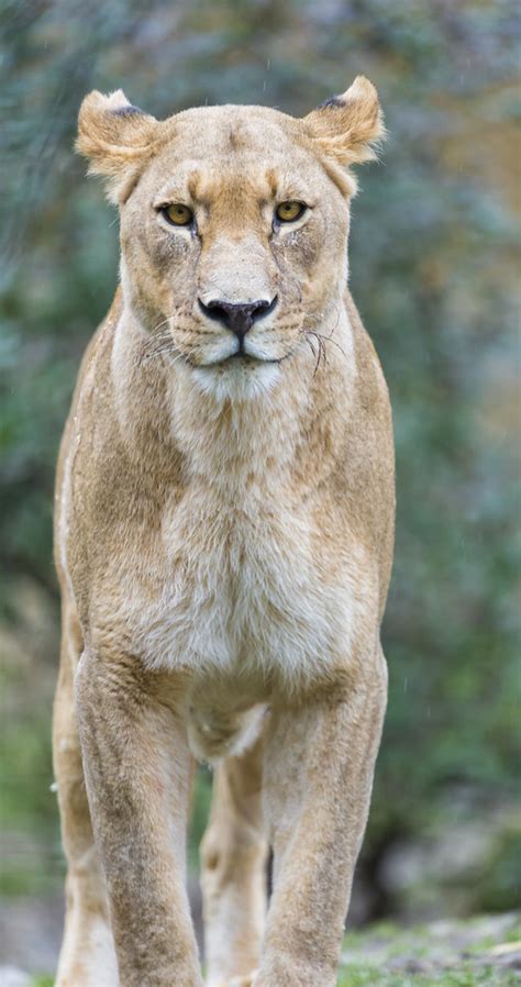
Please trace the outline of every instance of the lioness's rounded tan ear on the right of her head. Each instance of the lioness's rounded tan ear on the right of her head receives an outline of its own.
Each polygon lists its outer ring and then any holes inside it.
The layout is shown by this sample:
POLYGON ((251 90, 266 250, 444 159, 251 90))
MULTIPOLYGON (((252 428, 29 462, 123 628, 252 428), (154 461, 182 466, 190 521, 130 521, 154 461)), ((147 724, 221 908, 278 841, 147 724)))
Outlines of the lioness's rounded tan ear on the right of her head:
POLYGON ((303 124, 321 153, 344 166, 375 158, 374 145, 385 136, 378 93, 365 76, 308 113, 303 124))

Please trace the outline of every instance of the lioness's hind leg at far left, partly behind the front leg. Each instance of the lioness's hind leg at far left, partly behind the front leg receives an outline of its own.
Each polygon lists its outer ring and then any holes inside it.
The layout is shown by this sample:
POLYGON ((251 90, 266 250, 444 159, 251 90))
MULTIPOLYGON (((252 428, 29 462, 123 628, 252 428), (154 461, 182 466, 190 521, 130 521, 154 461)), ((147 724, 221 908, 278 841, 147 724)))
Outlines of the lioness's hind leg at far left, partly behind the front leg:
POLYGON ((56 987, 118 987, 104 876, 93 842, 74 708, 74 667, 81 647, 77 621, 64 607, 53 744, 67 880, 56 987))

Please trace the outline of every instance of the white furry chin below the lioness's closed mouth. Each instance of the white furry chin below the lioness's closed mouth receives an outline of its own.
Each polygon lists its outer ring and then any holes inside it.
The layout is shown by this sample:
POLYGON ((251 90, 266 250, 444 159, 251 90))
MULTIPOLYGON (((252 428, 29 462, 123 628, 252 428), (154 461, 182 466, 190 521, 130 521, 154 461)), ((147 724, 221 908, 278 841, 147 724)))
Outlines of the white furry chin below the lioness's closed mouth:
POLYGON ((193 367, 192 374, 200 390, 218 401, 251 401, 268 395, 281 370, 278 363, 244 357, 193 367))

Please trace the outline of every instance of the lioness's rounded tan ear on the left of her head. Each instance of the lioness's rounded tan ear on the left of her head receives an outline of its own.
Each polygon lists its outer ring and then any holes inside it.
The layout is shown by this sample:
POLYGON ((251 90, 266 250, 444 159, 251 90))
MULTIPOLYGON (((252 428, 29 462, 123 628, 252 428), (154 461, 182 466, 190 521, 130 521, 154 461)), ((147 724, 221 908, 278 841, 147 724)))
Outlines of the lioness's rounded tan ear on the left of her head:
POLYGON ((156 146, 159 123, 133 107, 118 89, 95 90, 84 99, 76 149, 90 160, 90 175, 108 177, 108 198, 124 202, 156 146))

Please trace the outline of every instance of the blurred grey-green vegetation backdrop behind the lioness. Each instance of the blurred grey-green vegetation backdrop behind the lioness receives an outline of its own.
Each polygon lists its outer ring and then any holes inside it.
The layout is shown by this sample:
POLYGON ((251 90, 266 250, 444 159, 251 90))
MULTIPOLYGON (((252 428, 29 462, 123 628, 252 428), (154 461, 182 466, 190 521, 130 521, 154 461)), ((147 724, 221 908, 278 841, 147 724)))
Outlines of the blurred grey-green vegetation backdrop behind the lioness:
MULTIPOLYGON (((357 73, 377 85, 390 132, 383 165, 361 171, 351 281, 391 391, 399 509, 385 623, 389 713, 352 918, 513 907, 521 884, 517 3, 4 0, 2 22, 9 913, 23 922, 27 902, 47 916, 59 901, 49 790, 53 474, 80 355, 118 278, 115 213, 73 154, 81 98, 122 87, 157 117, 207 102, 303 114, 357 73)), ((193 867, 210 780, 201 772, 193 867)))

